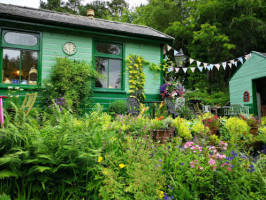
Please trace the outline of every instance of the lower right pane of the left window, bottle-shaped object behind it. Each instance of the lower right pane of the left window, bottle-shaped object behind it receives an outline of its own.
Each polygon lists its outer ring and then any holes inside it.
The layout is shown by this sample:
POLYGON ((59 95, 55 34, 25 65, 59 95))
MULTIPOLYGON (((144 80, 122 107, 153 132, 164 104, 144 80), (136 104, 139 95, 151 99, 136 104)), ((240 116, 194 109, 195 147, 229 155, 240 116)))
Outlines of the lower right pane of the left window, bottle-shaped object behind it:
POLYGON ((21 51, 21 84, 37 85, 36 51, 21 51))

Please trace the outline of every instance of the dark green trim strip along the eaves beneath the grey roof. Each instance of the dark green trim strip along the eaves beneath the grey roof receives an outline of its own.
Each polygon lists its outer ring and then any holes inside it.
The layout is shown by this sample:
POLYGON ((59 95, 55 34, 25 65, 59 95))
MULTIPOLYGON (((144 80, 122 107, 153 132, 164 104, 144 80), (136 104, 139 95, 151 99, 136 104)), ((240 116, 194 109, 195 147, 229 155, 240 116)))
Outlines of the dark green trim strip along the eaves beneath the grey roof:
MULTIPOLYGON (((35 26, 35 27, 44 27, 44 28, 52 28, 52 29, 59 29, 59 30, 66 30, 66 31, 74 31, 74 32, 83 32, 83 33, 89 33, 89 34, 98 34, 102 36, 107 36, 107 37, 116 37, 116 38, 124 38, 124 39, 132 39, 132 40, 138 40, 138 41, 146 41, 146 42, 152 42, 152 43, 159 43, 159 44, 172 44, 174 39, 167 39, 167 38, 157 38, 157 37, 152 37, 152 36, 146 36, 149 38, 153 39, 147 39, 143 38, 141 36, 136 37, 137 34, 129 34, 129 35, 120 35, 123 33, 105 33, 105 32, 99 32, 99 31, 88 31, 84 29, 74 29, 74 28, 68 28, 68 27, 63 27, 63 26, 58 26, 58 25, 47 25, 47 24, 41 24, 41 23, 36 23, 36 22, 21 22, 18 20, 12 20, 12 19, 0 19, 0 22, 8 22, 8 23, 16 23, 16 24, 25 24, 25 25, 30 25, 30 26, 35 26)), ((73 25, 72 25, 73 27, 73 25)), ((125 33, 124 33, 125 34, 125 33)))

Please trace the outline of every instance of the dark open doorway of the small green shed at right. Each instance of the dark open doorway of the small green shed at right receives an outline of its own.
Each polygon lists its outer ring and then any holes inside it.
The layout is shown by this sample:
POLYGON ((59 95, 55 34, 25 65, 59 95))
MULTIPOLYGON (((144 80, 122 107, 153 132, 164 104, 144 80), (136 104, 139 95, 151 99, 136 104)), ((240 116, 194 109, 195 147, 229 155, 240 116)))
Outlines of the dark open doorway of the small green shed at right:
POLYGON ((266 77, 254 80, 258 117, 266 116, 266 77))

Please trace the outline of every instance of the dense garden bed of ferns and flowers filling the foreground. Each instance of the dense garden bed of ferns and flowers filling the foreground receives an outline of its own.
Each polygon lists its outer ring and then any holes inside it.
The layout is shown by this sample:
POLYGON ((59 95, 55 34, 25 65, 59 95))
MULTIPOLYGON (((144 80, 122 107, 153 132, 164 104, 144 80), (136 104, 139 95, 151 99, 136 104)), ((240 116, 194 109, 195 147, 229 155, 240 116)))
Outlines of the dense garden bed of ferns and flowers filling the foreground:
POLYGON ((214 118, 209 113, 173 120, 150 119, 146 111, 112 121, 101 107, 80 118, 56 106, 7 117, 1 198, 265 199, 265 155, 250 148, 265 142, 264 122, 253 136, 245 119, 219 118, 223 131, 210 135, 203 123, 214 118), (162 128, 176 136, 154 142, 162 128))

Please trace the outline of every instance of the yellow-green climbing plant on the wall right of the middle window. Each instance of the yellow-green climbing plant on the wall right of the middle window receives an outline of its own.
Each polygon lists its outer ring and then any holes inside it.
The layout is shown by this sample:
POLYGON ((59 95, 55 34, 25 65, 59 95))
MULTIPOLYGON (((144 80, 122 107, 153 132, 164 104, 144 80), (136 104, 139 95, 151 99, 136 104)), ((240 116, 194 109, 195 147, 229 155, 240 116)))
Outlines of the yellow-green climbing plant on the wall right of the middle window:
POLYGON ((145 74, 143 65, 149 64, 143 57, 130 55, 126 59, 127 70, 129 72, 129 93, 140 101, 145 99, 145 74))

